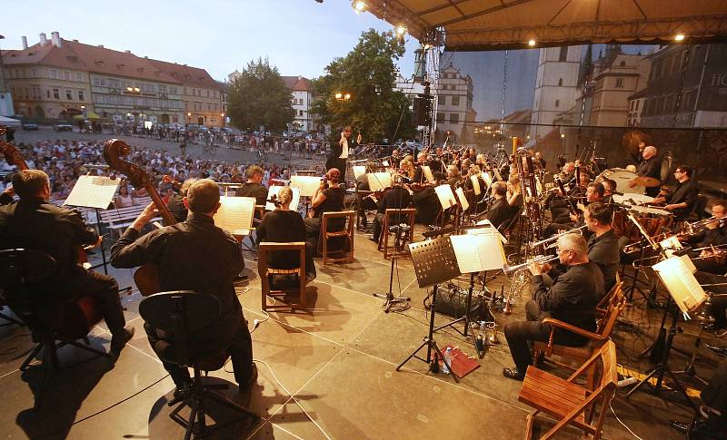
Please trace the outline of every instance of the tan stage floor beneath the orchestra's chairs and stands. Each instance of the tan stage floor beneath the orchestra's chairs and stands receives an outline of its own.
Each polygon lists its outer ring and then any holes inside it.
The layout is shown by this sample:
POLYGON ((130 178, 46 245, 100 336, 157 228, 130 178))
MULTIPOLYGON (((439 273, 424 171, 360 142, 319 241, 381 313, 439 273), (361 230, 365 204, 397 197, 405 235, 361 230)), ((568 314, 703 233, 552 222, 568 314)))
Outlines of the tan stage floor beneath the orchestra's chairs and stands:
MULTIPOLYGON (((417 225, 416 230, 421 233, 423 229, 417 225)), ((502 368, 513 365, 502 326, 524 317, 529 289, 522 298, 515 298, 512 315, 494 312, 500 344, 488 347, 479 359, 480 367, 455 383, 450 376, 429 373, 427 365, 416 359, 395 371, 421 344, 429 320, 423 307, 427 292, 417 287, 411 259, 397 260, 393 279, 395 295, 401 287, 403 295, 412 297, 406 311, 384 313, 383 300, 373 297, 373 292, 388 290, 390 263, 372 241, 357 232, 353 263, 324 267, 316 259, 318 277, 308 287, 308 311, 275 312, 268 318, 261 310, 254 257, 253 252, 245 252, 248 279, 238 283, 237 292, 250 327, 255 319, 261 321, 253 333, 257 384, 249 393, 238 395, 231 373, 219 370, 210 376, 230 383, 226 395, 251 408, 260 420, 236 422, 231 419, 234 415, 210 405, 209 414, 226 424, 215 438, 523 437, 530 408, 518 401, 522 383, 502 376, 502 368)), ((129 270, 112 269, 111 274, 122 288, 131 283, 129 270)), ((500 275, 488 287, 499 290, 505 281, 500 275)), ((637 293, 636 298, 641 296, 637 293)), ((140 299, 138 294, 123 298, 135 336, 115 367, 106 359, 89 359, 85 352, 63 347, 59 353, 66 368, 39 397, 44 388, 40 368, 25 373, 17 369, 32 348, 27 329, 15 325, 0 328, 0 389, 4 392, 0 425, 6 437, 167 439, 184 435, 184 429, 168 417, 170 408, 165 402, 171 398, 174 384, 148 345, 137 313, 140 299)), ((613 337, 621 365, 640 372, 652 367, 637 355, 651 345, 661 317, 662 309, 647 308, 642 300, 625 309, 622 318, 633 326, 617 326, 613 337)), ((436 323, 449 319, 437 315, 436 323)), ((680 321, 680 326, 684 332, 676 336, 675 345, 691 354, 699 328, 694 321, 680 321)), ((724 344, 711 333, 704 335, 707 341, 724 344)), ((93 346, 108 349, 109 340, 105 326, 95 328, 93 346)), ((475 356, 472 344, 451 328, 437 332, 435 340, 440 347, 451 344, 475 356)), ((672 351, 672 369, 681 370, 688 361, 689 357, 672 351)), ((717 361, 716 355, 701 347, 697 373, 709 378, 717 361)), ((679 376, 684 385, 700 389, 692 377, 679 376)), ((613 410, 644 439, 678 438, 680 434, 669 426, 669 420, 692 417, 692 409, 678 398, 674 403, 644 388, 626 400, 627 390, 617 391, 613 410)), ((543 416, 538 420, 542 427, 550 425, 543 416)), ((568 432, 573 438, 580 434, 568 432)), ((603 434, 605 438, 632 438, 611 411, 603 434)))

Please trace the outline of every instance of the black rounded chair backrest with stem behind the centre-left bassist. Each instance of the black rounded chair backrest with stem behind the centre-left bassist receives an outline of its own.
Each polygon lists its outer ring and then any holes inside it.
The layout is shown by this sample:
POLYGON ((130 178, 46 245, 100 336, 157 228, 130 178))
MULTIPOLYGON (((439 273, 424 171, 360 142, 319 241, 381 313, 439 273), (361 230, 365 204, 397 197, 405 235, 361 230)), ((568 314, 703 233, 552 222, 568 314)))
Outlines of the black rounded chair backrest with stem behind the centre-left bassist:
POLYGON ((220 300, 192 290, 160 292, 142 299, 139 314, 153 328, 174 334, 176 363, 189 366, 187 341, 195 331, 219 318, 220 300))

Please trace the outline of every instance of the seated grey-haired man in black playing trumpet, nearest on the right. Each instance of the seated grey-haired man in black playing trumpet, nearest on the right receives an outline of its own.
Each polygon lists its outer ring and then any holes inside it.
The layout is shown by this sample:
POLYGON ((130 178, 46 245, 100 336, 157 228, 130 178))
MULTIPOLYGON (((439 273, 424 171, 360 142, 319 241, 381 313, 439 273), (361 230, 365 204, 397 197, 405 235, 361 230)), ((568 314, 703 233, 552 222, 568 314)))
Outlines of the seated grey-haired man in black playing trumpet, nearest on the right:
MULTIPOLYGON (((515 367, 503 368, 503 376, 523 380, 527 367, 533 363, 528 341, 547 341, 551 326, 543 318, 559 319, 584 330, 596 328, 593 312, 603 297, 603 274, 598 265, 588 259, 588 246, 582 236, 565 234, 558 239, 558 256, 567 271, 555 279, 548 288, 543 283, 543 273, 552 269, 550 264, 533 263, 533 299, 525 305, 525 321, 506 324, 505 338, 510 346, 515 367)), ((588 339, 557 329, 556 344, 583 346, 588 339)))

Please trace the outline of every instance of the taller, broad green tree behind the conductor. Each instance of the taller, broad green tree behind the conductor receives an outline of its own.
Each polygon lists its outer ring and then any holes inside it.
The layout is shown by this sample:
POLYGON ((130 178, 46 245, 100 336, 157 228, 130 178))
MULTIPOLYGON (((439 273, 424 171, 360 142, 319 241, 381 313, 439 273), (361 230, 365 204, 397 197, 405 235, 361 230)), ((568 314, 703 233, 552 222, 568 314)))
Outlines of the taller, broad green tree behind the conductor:
POLYGON ((369 29, 361 34, 354 50, 334 59, 325 67, 326 73, 314 80, 312 112, 334 127, 335 140, 337 129, 344 125, 353 127, 354 136, 362 132, 364 142, 413 136, 411 103, 406 95, 393 90, 394 60, 403 54, 403 41, 393 32, 379 34, 369 29), (351 97, 337 99, 336 93, 350 93, 351 97))

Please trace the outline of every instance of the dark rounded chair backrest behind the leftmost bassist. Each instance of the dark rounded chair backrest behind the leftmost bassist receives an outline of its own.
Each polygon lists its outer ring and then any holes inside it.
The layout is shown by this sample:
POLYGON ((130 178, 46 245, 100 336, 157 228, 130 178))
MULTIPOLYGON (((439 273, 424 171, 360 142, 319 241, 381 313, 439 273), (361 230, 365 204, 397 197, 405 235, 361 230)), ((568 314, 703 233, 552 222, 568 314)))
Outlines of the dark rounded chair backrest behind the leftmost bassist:
POLYGON ((55 259, 42 250, 0 250, 0 287, 13 288, 47 279, 55 272, 55 259))

